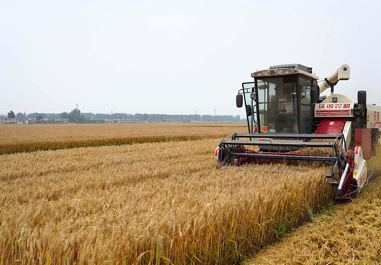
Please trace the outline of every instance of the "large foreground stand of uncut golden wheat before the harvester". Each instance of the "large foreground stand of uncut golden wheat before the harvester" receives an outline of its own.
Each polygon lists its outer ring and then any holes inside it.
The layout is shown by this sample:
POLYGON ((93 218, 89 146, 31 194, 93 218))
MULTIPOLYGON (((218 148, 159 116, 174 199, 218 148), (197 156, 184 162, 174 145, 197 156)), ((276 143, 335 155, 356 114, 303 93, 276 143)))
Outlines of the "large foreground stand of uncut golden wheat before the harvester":
POLYGON ((0 156, 0 264, 236 264, 331 199, 322 168, 218 170, 214 129, 0 156))

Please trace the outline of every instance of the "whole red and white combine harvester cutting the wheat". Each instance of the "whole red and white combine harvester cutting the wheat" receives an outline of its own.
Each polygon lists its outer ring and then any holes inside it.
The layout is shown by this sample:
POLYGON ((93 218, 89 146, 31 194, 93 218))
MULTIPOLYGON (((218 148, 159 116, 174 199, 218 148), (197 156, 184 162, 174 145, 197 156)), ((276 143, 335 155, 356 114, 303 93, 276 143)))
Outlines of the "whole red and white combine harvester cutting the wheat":
POLYGON ((245 102, 249 134, 233 133, 215 149, 220 167, 254 164, 331 165, 331 184, 337 200, 355 197, 368 185, 366 160, 375 155, 380 138, 381 107, 366 103, 366 91, 357 100, 337 94, 339 80, 348 80, 344 64, 320 85, 312 68, 301 64, 270 66, 251 73, 254 82, 242 84, 237 107, 245 102), (330 88, 330 95, 320 96, 330 88))

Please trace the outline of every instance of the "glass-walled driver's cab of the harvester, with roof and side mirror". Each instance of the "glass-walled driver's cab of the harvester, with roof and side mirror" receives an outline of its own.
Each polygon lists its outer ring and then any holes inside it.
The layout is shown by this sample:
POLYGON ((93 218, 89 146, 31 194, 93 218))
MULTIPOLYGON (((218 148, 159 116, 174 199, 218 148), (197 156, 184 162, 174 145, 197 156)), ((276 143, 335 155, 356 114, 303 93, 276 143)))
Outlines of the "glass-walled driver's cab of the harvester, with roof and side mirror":
POLYGON ((312 105, 319 95, 312 68, 300 64, 270 66, 251 73, 242 84, 237 107, 245 102, 249 133, 312 133, 312 105))

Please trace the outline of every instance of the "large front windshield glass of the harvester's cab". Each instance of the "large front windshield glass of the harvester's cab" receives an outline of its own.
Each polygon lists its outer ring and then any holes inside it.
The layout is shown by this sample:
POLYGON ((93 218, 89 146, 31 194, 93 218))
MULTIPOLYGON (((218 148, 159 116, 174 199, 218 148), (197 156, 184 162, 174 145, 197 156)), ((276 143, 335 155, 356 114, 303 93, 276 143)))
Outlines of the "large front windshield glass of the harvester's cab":
POLYGON ((257 79, 258 109, 263 133, 298 133, 296 76, 257 79))

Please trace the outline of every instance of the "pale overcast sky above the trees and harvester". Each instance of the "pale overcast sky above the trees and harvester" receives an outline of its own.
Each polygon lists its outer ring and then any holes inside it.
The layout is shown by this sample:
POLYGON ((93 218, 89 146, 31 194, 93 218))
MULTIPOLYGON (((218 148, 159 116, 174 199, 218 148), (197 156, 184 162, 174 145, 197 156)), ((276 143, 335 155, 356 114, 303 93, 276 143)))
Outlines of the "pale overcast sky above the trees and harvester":
POLYGON ((0 113, 241 115, 250 73, 299 63, 381 105, 381 1, 0 0, 0 113))

